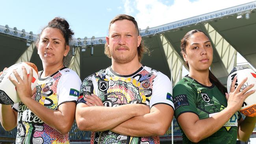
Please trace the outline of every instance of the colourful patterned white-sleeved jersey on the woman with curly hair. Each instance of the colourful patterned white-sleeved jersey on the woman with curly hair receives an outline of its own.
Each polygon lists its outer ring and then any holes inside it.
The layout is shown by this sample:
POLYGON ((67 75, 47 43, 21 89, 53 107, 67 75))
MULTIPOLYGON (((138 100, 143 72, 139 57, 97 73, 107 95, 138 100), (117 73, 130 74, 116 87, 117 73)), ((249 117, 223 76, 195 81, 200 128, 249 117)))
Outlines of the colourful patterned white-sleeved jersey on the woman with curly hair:
MULTIPOLYGON (((81 80, 76 72, 64 67, 52 76, 41 78, 42 72, 37 92, 32 96, 34 100, 53 110, 61 103, 78 100, 81 80)), ((69 144, 69 133, 63 135, 48 126, 22 102, 15 103, 13 109, 18 112, 16 144, 69 144)))

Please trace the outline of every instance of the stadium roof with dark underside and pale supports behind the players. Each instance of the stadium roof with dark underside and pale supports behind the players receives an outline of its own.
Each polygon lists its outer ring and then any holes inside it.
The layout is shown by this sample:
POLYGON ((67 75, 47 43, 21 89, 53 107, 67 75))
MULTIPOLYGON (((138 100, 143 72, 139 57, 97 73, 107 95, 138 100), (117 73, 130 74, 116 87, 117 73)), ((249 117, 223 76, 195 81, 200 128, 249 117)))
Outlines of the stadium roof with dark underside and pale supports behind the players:
MULTIPOLYGON (((181 77, 182 57, 180 39, 189 30, 200 29, 208 33, 214 45, 214 59, 211 71, 217 78, 226 80, 230 69, 236 65, 236 52, 239 52, 252 66, 256 67, 256 1, 206 13, 177 22, 171 22, 154 28, 140 30, 145 44, 152 54, 145 55, 144 65, 160 70, 169 78, 171 71, 174 83, 181 77), (241 16, 241 18, 239 17, 241 16)), ((28 61, 42 69, 34 45, 37 35, 20 31, 8 26, 0 26, 1 58, 0 68, 10 66, 27 54, 28 61)), ((81 79, 97 70, 111 65, 111 60, 104 55, 105 37, 75 39, 73 65, 81 79), (92 48, 93 47, 93 48, 92 48)))

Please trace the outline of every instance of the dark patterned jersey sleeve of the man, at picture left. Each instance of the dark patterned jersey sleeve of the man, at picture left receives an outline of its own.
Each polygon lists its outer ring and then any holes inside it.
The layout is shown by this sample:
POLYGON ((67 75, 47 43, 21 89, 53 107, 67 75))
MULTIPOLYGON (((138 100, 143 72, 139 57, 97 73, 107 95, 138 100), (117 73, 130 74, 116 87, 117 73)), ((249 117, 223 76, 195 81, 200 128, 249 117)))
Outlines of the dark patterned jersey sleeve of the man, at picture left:
POLYGON ((93 94, 93 76, 88 76, 83 80, 83 83, 80 87, 80 96, 78 97, 77 103, 85 103, 86 101, 83 99, 85 98, 85 95, 91 95, 93 94))

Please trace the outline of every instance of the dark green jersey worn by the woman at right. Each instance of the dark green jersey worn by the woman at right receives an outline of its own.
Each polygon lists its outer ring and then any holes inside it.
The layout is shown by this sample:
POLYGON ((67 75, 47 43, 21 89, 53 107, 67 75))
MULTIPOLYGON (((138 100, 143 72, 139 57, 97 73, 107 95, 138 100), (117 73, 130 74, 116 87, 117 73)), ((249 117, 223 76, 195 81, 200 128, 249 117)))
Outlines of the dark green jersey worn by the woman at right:
MULTIPOLYGON (((195 113, 200 120, 219 113, 227 106, 225 95, 214 84, 207 87, 189 76, 174 86, 173 102, 176 118, 182 113, 195 113)), ((221 129, 198 144, 236 144, 237 125, 240 119, 241 114, 236 112, 221 129)), ((184 144, 193 143, 184 133, 182 137, 184 144)))

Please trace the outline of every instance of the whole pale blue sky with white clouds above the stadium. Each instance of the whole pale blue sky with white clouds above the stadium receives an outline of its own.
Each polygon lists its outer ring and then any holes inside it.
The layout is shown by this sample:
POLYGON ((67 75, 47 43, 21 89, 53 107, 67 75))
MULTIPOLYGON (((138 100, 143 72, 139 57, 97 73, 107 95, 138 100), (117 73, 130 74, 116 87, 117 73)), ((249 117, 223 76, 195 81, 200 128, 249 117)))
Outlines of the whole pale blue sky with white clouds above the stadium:
POLYGON ((252 0, 3 0, 0 25, 40 32, 54 17, 66 18, 75 38, 105 37, 115 15, 132 15, 139 28, 154 27, 176 20, 236 6, 252 0), (219 2, 222 2, 219 5, 219 2), (208 6, 204 6, 207 4, 208 6), (210 5, 210 7, 209 7, 210 5), (214 7, 216 5, 216 7, 214 7), (199 7, 199 9, 195 9, 199 7), (202 6, 202 7, 200 7, 202 6))

